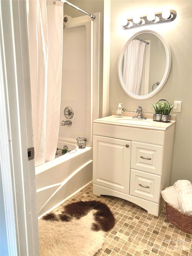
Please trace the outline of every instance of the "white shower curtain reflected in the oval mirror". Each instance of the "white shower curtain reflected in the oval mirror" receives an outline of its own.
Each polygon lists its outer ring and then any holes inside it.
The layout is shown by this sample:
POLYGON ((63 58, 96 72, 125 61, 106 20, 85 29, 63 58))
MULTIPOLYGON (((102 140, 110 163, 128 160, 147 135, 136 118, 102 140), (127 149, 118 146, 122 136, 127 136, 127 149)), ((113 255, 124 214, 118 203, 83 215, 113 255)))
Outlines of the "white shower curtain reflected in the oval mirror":
POLYGON ((124 53, 123 79, 126 88, 140 95, 143 59, 146 44, 139 40, 132 40, 124 53))

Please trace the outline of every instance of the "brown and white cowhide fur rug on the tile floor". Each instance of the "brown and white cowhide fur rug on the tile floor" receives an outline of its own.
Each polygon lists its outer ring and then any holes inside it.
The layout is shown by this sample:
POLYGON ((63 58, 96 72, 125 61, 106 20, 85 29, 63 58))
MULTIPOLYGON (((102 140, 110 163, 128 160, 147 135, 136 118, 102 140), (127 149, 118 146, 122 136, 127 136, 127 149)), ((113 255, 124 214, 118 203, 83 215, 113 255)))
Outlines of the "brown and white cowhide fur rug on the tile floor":
POLYGON ((41 256, 92 256, 102 248, 115 218, 106 204, 92 200, 68 204, 38 224, 41 256))

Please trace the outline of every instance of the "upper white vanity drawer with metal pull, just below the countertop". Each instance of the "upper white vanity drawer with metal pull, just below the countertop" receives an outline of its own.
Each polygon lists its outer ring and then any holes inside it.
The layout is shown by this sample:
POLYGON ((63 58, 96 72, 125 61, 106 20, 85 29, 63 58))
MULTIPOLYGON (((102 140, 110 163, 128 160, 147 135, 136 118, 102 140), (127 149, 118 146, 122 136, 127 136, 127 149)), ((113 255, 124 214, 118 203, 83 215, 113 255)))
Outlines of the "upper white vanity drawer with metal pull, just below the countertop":
POLYGON ((163 146, 132 141, 131 168, 161 175, 163 146))

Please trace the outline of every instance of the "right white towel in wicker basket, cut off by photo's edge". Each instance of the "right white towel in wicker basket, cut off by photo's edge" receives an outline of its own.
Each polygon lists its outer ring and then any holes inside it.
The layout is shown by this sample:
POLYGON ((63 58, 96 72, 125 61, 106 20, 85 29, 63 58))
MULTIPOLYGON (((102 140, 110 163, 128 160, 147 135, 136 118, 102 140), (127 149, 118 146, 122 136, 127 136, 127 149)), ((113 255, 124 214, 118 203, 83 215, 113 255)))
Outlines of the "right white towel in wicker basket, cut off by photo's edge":
POLYGON ((187 188, 179 192, 179 206, 182 212, 192 215, 192 189, 187 188))

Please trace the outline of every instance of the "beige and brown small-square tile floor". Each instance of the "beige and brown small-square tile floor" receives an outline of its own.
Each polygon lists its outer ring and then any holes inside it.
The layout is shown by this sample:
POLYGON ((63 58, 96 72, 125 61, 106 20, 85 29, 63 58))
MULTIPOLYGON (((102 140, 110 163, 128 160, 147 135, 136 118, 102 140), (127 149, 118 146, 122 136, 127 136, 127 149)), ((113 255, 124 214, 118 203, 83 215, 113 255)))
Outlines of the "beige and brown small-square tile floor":
POLYGON ((116 225, 110 232, 96 256, 181 256, 192 255, 192 235, 184 233, 166 219, 165 206, 159 217, 126 200, 112 197, 98 197, 92 194, 88 185, 54 211, 68 203, 79 200, 101 200, 116 217, 116 225))

